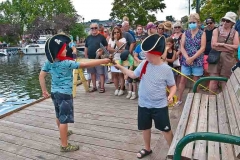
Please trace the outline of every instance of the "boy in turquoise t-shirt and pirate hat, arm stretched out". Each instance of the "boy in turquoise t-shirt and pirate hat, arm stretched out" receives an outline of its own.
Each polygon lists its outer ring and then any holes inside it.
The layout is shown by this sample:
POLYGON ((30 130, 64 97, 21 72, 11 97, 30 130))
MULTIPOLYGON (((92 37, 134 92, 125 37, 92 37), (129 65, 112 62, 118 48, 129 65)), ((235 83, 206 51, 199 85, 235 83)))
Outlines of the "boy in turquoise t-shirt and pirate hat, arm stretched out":
POLYGON ((47 40, 45 53, 48 60, 44 63, 39 75, 42 94, 45 98, 49 97, 45 77, 47 73, 50 73, 52 77, 51 98, 55 106, 56 122, 60 131, 61 152, 71 152, 79 149, 79 146, 71 145, 67 141, 67 136, 72 134, 68 130, 68 123, 74 123, 72 97, 73 69, 94 67, 110 62, 109 59, 100 59, 85 63, 72 61, 72 58, 66 57, 66 46, 70 42, 71 39, 64 34, 55 35, 47 40))

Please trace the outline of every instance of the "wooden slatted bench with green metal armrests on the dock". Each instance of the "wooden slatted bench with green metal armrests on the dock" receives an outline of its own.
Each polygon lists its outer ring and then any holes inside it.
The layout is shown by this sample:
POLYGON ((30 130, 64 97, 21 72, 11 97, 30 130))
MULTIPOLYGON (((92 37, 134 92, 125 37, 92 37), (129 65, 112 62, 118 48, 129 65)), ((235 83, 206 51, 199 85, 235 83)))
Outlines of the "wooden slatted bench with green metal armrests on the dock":
POLYGON ((239 129, 240 68, 232 73, 230 79, 201 78, 195 83, 193 93, 187 96, 167 158, 194 160, 240 158, 239 129), (227 81, 227 85, 217 95, 196 93, 198 84, 210 79, 227 81), (174 157, 174 153, 179 154, 178 158, 174 157))

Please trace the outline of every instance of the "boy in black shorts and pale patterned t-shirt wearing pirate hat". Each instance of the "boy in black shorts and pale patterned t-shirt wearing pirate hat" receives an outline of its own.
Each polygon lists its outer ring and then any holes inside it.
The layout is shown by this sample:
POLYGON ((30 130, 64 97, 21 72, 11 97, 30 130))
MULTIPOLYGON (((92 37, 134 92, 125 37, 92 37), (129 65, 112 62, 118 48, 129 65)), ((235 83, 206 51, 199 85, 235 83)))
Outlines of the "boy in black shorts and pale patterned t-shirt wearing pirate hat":
POLYGON ((152 120, 155 128, 162 131, 170 146, 173 134, 167 106, 168 103, 172 103, 176 92, 172 69, 161 59, 165 50, 164 36, 151 35, 143 41, 141 47, 146 52, 146 60, 141 62, 134 71, 119 64, 115 65, 129 77, 141 78, 138 91, 138 129, 143 131, 145 148, 138 152, 139 159, 152 153, 150 147, 152 120), (168 97, 166 87, 170 90, 168 97))

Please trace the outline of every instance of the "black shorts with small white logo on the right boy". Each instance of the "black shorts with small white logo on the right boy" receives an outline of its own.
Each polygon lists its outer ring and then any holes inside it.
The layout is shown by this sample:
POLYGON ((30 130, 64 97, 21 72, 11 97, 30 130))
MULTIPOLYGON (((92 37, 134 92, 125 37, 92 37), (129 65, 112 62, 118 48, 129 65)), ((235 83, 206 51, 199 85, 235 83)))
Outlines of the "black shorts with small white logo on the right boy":
POLYGON ((152 120, 154 120, 156 129, 163 132, 168 132, 171 130, 168 107, 146 108, 138 106, 138 129, 151 129, 152 120))

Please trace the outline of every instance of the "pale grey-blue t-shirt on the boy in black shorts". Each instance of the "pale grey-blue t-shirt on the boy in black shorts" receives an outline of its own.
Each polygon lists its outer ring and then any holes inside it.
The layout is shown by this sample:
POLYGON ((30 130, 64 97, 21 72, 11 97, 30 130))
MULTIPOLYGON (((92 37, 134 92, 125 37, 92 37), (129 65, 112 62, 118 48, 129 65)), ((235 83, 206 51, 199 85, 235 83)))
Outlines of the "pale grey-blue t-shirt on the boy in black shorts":
MULTIPOLYGON (((134 75, 139 77, 143 61, 135 70, 134 75)), ((175 85, 172 69, 165 63, 153 65, 148 63, 146 74, 142 75, 139 91, 138 105, 146 108, 164 108, 168 105, 166 87, 175 85)))

